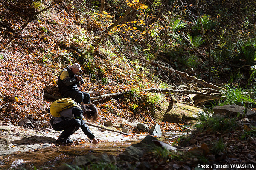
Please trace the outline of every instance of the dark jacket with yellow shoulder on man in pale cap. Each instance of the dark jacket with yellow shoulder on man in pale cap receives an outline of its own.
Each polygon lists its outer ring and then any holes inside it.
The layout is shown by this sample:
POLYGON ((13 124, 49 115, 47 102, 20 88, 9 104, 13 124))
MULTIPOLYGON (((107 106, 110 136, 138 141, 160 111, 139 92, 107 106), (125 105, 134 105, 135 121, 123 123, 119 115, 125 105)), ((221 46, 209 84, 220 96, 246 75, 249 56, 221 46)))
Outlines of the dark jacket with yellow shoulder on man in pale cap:
POLYGON ((67 91, 79 91, 77 83, 77 78, 69 70, 69 67, 63 69, 61 73, 59 73, 57 85, 62 94, 67 91))

